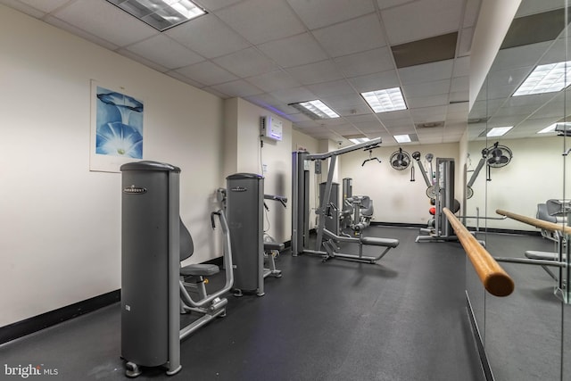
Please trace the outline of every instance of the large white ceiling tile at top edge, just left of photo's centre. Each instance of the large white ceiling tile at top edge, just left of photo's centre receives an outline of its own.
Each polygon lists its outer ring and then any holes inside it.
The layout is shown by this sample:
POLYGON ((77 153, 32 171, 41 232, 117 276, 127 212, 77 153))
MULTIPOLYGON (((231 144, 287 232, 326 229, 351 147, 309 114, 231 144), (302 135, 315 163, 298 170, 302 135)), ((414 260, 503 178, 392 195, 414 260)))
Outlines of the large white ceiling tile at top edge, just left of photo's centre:
POLYGON ((302 21, 285 0, 244 1, 216 14, 254 45, 305 31, 302 21))

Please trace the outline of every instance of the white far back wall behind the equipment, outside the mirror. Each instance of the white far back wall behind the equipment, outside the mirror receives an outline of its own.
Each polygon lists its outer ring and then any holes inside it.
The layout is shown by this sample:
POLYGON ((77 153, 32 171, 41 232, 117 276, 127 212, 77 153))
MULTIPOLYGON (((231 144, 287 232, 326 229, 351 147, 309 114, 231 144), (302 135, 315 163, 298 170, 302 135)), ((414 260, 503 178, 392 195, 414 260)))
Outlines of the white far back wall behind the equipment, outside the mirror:
MULTIPOLYGON (((429 170, 425 160, 426 153, 434 154, 433 166, 435 168, 435 158, 452 158, 456 163, 455 187, 459 189, 459 144, 442 145, 404 145, 402 149, 409 154, 419 151, 422 154, 421 161, 426 170, 429 170)), ((430 199, 426 196, 426 183, 416 162, 415 178, 410 181, 410 167, 407 170, 393 170, 389 164, 391 155, 398 150, 398 147, 381 147, 373 151, 373 157, 381 159, 379 162, 367 162, 368 153, 354 151, 340 156, 341 178, 353 179, 353 195, 368 195, 373 200, 375 214, 373 221, 398 222, 410 224, 426 224, 430 219, 428 210, 430 209, 430 199)), ((456 192, 458 198, 458 192, 456 192)))

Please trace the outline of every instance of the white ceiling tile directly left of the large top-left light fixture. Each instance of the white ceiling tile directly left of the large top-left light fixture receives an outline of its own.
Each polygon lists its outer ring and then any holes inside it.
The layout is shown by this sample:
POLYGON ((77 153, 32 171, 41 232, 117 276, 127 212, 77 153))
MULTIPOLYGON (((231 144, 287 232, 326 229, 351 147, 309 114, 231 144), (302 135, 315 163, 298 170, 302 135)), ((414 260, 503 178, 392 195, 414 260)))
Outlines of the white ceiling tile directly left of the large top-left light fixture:
POLYGON ((106 1, 78 0, 54 12, 54 16, 117 46, 127 46, 159 33, 127 12, 118 12, 115 5, 106 1))

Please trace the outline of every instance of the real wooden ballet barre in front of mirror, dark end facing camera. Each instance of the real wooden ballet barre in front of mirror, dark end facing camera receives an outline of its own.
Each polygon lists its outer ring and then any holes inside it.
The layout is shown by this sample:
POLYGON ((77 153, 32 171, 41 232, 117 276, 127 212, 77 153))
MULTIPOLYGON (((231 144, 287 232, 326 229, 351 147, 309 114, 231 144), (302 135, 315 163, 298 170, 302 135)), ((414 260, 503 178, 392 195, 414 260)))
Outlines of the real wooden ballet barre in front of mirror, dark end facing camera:
POLYGON ((484 249, 468 229, 448 208, 443 208, 446 218, 450 222, 456 236, 464 247, 464 251, 476 269, 476 274, 484 285, 486 291, 494 296, 508 296, 514 291, 514 281, 508 273, 501 268, 490 253, 484 249))

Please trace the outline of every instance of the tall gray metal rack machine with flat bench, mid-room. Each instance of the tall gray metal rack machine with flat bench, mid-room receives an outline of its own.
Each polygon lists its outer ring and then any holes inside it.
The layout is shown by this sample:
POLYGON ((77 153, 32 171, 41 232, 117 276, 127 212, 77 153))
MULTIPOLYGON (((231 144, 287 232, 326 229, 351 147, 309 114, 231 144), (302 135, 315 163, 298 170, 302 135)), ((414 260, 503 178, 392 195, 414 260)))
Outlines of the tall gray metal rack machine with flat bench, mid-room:
POLYGON ((331 196, 331 188, 333 184, 333 174, 335 171, 335 163, 337 156, 343 153, 350 153, 363 149, 371 150, 381 144, 381 138, 370 140, 366 143, 351 145, 349 147, 340 148, 329 153, 315 153, 297 151, 292 154, 292 254, 297 256, 302 253, 316 254, 323 257, 324 261, 331 258, 340 258, 352 261, 365 261, 375 263, 385 256, 392 248, 398 246, 397 239, 376 238, 360 236, 359 238, 338 236, 334 232, 326 228, 326 219, 330 214, 331 205, 328 203, 331 196), (329 159, 329 170, 327 172, 327 183, 323 196, 319 201, 319 208, 316 211, 319 216, 317 228, 317 242, 315 249, 309 249, 310 244, 310 162, 316 163, 316 168, 321 167, 321 162, 329 159), (324 243, 324 236, 328 240, 324 243), (336 243, 346 242, 359 244, 359 254, 337 253, 336 243), (325 248, 321 250, 321 246, 325 248), (363 245, 382 246, 385 247, 383 253, 376 257, 363 255, 363 245))

